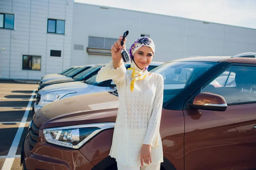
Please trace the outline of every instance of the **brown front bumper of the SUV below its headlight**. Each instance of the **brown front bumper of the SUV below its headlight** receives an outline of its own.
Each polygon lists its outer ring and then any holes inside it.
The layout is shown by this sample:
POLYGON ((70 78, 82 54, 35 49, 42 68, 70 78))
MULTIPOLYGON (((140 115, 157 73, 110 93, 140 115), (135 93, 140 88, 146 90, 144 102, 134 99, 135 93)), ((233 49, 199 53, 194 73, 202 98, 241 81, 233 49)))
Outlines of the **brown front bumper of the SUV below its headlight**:
POLYGON ((47 144, 41 137, 31 150, 29 134, 23 142, 20 162, 24 170, 92 170, 94 167, 79 150, 47 144))

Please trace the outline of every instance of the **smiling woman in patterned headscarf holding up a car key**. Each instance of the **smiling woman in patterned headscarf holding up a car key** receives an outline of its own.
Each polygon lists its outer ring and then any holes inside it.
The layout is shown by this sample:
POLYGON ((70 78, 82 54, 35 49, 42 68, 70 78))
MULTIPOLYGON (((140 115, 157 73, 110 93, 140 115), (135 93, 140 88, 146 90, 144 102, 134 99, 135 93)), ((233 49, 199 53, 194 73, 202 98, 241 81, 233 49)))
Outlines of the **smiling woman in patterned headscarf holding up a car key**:
POLYGON ((163 147, 159 133, 163 106, 163 77, 149 73, 155 47, 140 37, 130 48, 131 68, 121 56, 122 36, 111 47, 112 61, 101 68, 96 81, 112 79, 119 94, 119 108, 110 156, 118 170, 160 170, 163 147))

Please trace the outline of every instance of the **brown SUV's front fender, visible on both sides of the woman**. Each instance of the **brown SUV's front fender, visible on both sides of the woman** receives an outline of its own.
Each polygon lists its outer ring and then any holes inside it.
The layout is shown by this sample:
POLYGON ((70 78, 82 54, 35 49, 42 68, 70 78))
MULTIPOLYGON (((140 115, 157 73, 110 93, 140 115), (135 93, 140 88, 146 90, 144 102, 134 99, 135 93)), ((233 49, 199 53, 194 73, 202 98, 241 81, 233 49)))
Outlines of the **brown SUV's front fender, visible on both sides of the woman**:
MULTIPOLYGON (((175 166, 176 170, 183 170, 183 111, 163 109, 160 135, 163 143, 163 156, 175 166)), ((108 157, 112 138, 113 129, 105 130, 85 144, 80 149, 80 152, 96 166, 100 161, 108 157)))

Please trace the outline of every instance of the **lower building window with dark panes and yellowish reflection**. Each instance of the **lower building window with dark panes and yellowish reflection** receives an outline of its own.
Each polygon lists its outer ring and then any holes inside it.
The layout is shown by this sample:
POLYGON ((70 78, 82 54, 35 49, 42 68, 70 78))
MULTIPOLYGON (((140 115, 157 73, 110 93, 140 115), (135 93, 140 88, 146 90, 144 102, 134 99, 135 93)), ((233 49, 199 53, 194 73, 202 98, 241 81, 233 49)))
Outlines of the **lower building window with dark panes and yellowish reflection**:
POLYGON ((41 56, 23 55, 22 70, 41 70, 41 56))

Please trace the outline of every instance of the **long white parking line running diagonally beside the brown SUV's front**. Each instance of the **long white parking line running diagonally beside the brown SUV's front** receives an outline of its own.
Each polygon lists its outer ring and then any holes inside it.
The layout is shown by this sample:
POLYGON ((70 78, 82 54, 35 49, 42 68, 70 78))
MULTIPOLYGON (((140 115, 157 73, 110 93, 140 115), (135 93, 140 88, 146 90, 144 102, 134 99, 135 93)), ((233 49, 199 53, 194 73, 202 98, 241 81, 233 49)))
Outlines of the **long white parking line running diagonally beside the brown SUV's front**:
POLYGON ((22 120, 20 122, 20 125, 19 125, 19 128, 17 130, 17 133, 16 133, 16 135, 13 139, 12 146, 9 150, 8 155, 7 155, 7 156, 11 156, 11 158, 6 158, 6 160, 4 161, 2 170, 11 170, 11 168, 12 168, 12 164, 13 164, 13 161, 14 161, 14 156, 16 155, 17 148, 18 148, 18 145, 20 143, 20 138, 21 138, 21 135, 23 133, 23 129, 26 125, 26 119, 28 118, 34 95, 35 95, 35 90, 33 91, 32 95, 29 99, 29 103, 27 105, 26 111, 23 115, 23 118, 22 118, 22 120))

